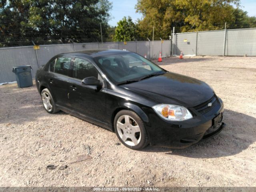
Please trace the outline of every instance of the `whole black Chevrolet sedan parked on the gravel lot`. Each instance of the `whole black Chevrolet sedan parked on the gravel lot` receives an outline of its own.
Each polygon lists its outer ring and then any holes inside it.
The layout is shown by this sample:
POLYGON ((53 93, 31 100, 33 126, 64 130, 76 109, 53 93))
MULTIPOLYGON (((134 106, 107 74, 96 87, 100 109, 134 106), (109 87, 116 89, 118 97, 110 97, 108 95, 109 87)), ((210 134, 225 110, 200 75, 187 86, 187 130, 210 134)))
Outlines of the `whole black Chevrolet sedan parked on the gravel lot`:
POLYGON ((107 128, 132 149, 184 148, 223 129, 223 102, 210 86, 133 52, 59 54, 37 70, 36 86, 48 113, 107 128))

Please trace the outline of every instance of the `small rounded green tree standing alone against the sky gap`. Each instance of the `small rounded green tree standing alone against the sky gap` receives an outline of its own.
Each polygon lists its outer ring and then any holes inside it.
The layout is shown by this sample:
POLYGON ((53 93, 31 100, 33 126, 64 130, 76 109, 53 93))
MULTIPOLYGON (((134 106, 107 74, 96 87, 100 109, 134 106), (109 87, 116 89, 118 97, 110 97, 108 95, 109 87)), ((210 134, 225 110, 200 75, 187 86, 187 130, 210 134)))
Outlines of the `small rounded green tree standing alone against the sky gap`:
POLYGON ((134 22, 132 22, 132 18, 128 16, 126 19, 126 17, 124 17, 117 23, 114 40, 134 41, 137 37, 137 31, 137 26, 134 24, 134 22))

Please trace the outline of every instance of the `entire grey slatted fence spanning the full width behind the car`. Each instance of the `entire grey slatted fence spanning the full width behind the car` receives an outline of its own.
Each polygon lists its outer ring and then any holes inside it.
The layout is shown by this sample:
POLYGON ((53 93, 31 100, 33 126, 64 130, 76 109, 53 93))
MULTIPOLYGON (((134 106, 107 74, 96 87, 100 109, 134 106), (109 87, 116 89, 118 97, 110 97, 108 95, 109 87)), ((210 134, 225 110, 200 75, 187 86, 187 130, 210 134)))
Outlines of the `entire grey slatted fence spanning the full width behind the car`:
POLYGON ((105 42, 0 48, 0 83, 15 81, 12 67, 32 66, 32 77, 39 66, 56 54, 86 49, 119 49, 136 52, 149 59, 180 55, 256 56, 256 28, 177 33, 172 40, 105 42))

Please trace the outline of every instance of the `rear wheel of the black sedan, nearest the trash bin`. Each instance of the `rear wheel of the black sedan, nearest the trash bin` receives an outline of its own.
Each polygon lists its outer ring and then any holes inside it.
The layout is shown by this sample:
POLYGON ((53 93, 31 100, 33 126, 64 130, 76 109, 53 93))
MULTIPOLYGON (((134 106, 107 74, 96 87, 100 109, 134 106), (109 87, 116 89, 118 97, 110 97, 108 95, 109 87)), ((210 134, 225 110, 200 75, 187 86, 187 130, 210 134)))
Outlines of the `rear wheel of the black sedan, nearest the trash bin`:
POLYGON ((44 109, 48 113, 54 114, 59 111, 59 109, 56 107, 55 102, 52 98, 52 94, 47 88, 42 90, 41 98, 42 98, 44 109))

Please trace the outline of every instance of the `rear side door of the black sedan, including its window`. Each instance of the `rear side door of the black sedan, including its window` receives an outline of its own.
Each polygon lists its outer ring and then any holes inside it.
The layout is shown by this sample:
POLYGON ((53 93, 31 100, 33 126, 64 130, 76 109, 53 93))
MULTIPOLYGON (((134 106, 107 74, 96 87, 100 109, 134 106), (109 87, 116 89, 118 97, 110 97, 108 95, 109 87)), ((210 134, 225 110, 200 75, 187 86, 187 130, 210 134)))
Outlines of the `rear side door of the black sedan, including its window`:
POLYGON ((46 75, 50 92, 57 105, 67 106, 68 104, 68 80, 71 71, 71 57, 58 57, 49 65, 49 72, 46 75))

